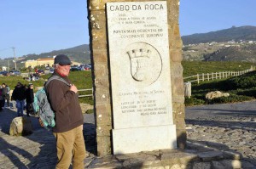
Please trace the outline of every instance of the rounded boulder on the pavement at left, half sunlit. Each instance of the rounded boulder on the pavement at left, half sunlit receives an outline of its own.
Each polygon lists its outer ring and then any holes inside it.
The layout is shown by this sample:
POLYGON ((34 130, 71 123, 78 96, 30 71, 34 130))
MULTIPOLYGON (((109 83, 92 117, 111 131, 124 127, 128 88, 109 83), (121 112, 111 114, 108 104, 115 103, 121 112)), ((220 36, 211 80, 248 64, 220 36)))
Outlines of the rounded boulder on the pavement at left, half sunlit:
POLYGON ((25 136, 32 133, 32 122, 26 117, 16 117, 10 124, 11 136, 25 136))

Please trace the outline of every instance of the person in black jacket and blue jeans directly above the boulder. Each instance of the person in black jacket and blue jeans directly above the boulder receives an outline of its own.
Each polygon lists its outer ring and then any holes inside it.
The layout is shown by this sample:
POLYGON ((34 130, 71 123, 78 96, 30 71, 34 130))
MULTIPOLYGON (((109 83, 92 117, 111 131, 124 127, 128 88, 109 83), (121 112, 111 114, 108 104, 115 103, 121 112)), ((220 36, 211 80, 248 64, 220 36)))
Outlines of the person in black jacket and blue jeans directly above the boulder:
POLYGON ((23 116, 24 99, 26 99, 24 86, 18 82, 11 97, 11 100, 16 101, 18 116, 23 116))

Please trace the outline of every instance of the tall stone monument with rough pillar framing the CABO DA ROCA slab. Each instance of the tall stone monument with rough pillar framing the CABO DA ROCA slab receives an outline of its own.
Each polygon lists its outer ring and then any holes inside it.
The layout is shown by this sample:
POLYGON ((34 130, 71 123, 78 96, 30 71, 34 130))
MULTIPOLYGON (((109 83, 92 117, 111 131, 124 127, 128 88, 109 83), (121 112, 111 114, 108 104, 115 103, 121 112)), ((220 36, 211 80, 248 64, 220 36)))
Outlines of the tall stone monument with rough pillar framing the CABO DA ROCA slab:
POLYGON ((185 147, 178 5, 90 0, 98 155, 185 147))

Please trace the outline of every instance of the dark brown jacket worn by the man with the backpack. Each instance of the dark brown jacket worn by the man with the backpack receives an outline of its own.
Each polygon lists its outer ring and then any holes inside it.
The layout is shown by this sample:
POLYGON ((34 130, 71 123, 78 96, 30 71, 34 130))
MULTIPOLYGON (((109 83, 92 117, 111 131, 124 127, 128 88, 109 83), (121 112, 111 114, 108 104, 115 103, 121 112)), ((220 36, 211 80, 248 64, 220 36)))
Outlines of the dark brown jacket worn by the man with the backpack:
MULTIPOLYGON (((57 73, 54 75, 60 76, 57 73)), ((62 77, 71 83, 67 77, 62 77)), ((84 116, 79 104, 79 96, 69 90, 64 82, 53 80, 47 86, 47 94, 52 110, 55 111, 55 127, 53 132, 67 132, 84 123, 84 116)))

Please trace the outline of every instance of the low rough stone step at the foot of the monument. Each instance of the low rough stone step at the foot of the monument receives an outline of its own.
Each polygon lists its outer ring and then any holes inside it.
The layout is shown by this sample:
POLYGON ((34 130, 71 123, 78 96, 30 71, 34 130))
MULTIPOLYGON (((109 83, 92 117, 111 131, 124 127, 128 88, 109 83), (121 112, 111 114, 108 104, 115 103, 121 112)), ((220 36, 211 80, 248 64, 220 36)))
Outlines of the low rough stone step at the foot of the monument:
POLYGON ((87 159, 86 168, 229 169, 253 168, 241 155, 188 142, 189 149, 164 149, 129 155, 87 159))

